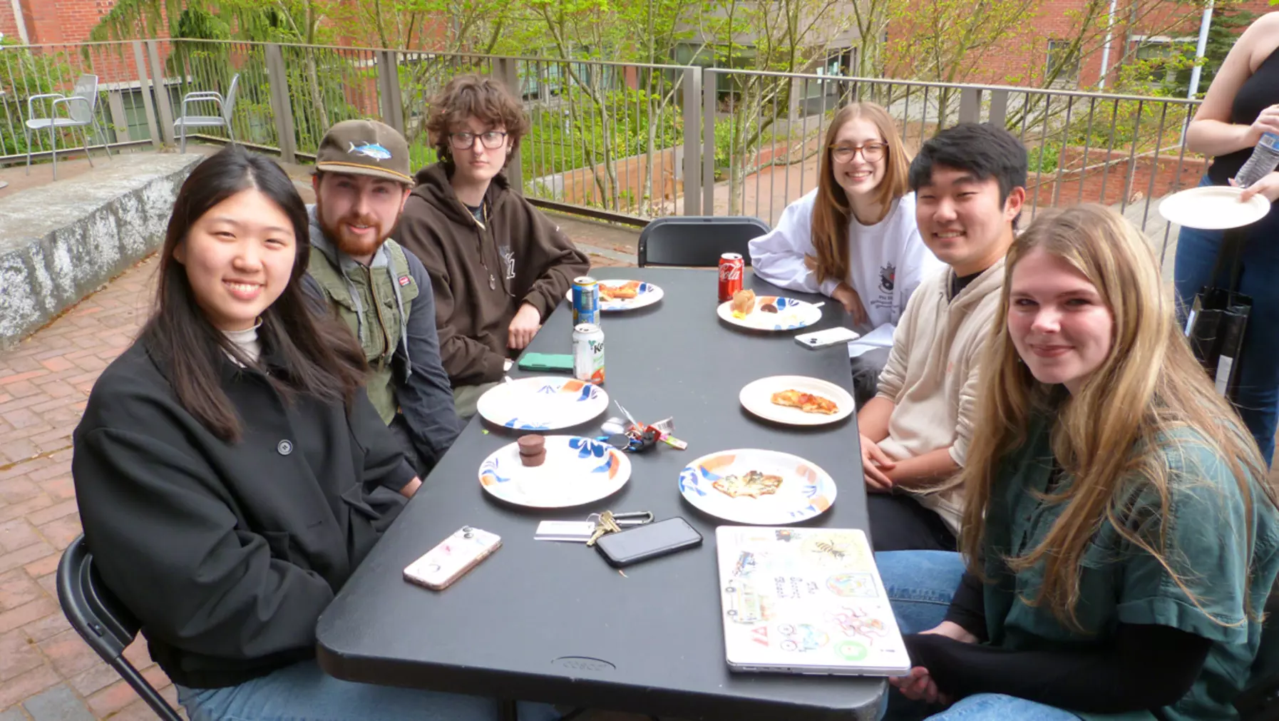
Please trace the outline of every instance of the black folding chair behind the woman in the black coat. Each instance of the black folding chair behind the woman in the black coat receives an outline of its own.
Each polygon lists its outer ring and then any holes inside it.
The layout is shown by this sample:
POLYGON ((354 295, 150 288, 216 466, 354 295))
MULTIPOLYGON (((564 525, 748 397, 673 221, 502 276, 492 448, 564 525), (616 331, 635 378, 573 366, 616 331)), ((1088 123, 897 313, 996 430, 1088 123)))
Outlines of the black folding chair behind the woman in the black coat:
POLYGON ((67 547, 63 560, 58 562, 58 601, 72 628, 138 692, 156 716, 165 721, 183 721, 178 711, 124 657, 124 649, 133 643, 142 624, 102 584, 83 536, 67 547))

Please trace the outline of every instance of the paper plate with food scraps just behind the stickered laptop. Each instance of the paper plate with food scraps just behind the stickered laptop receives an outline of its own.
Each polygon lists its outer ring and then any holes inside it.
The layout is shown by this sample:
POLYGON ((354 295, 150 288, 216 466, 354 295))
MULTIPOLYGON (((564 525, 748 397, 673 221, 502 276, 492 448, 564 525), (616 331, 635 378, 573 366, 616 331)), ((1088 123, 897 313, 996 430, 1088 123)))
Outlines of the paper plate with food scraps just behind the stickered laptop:
POLYGON ((835 504, 835 481, 819 465, 760 449, 698 458, 679 473, 679 492, 706 514, 753 525, 799 523, 835 504))

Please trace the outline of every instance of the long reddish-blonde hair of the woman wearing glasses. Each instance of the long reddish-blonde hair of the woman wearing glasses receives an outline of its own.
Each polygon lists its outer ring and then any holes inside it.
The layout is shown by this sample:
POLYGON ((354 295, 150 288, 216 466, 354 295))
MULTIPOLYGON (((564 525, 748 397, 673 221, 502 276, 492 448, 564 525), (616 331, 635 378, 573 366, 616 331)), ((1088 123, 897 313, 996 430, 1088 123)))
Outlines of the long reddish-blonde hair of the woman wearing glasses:
POLYGON ((808 257, 808 267, 816 272, 817 283, 828 279, 844 280, 848 277, 848 222, 852 217, 852 208, 848 206, 848 196, 844 189, 835 183, 834 159, 831 157, 835 144, 835 136, 840 128, 851 120, 865 118, 875 124, 884 142, 888 143, 888 152, 884 155, 884 180, 879 185, 879 196, 875 202, 885 211, 893 201, 909 192, 907 174, 911 170, 909 159, 906 157, 906 146, 897 133, 897 125, 888 111, 874 102, 852 102, 839 109, 826 128, 826 142, 821 151, 821 167, 817 171, 817 201, 812 208, 812 247, 817 257, 808 257))

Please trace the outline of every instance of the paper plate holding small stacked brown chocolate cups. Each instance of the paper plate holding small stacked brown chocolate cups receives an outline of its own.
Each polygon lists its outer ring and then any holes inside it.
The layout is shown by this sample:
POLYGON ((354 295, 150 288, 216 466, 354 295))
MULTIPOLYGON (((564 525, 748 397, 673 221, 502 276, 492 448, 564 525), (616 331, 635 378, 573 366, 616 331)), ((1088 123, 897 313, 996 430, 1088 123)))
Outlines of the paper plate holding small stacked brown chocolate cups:
POLYGON ((627 454, 592 438, 546 436, 546 460, 528 467, 519 444, 480 464, 480 486, 494 497, 536 509, 581 506, 616 493, 631 478, 627 454))

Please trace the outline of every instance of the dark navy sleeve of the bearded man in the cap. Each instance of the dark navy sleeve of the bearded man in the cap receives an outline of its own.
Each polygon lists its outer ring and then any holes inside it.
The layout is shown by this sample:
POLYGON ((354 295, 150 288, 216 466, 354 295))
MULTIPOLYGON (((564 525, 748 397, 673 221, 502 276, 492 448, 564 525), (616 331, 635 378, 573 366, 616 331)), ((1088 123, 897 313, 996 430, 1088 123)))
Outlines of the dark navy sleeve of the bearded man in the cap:
POLYGON ((435 465, 458 437, 462 423, 453 408, 453 385, 440 362, 431 276, 408 248, 404 249, 404 257, 418 293, 408 311, 408 368, 404 367, 403 345, 395 353, 400 363, 395 378, 395 400, 408 421, 413 445, 422 460, 435 465), (408 378, 404 378, 405 371, 408 378))

